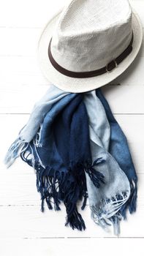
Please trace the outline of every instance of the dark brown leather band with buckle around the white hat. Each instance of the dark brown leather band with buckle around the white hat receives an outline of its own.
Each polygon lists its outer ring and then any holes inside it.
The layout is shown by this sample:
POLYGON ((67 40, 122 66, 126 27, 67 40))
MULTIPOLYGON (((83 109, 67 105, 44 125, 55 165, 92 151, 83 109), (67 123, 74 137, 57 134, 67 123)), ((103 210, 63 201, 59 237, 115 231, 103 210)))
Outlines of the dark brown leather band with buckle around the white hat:
POLYGON ((49 46, 48 46, 48 56, 49 56, 50 62, 53 65, 53 67, 55 67, 55 69, 57 69, 58 72, 61 72, 61 74, 67 75, 68 77, 71 77, 71 78, 91 78, 91 77, 95 77, 97 75, 102 75, 106 72, 111 72, 115 67, 117 67, 117 65, 120 64, 121 61, 123 61, 129 55, 129 53, 132 52, 133 37, 134 36, 132 33, 132 39, 131 39, 131 42, 129 43, 128 47, 116 59, 113 59, 113 61, 110 61, 110 63, 108 63, 105 67, 102 67, 101 69, 96 69, 93 71, 74 72, 74 71, 70 71, 68 69, 64 69, 64 67, 61 67, 55 61, 55 59, 53 59, 53 56, 52 56, 52 53, 50 50, 52 38, 50 39, 49 46))

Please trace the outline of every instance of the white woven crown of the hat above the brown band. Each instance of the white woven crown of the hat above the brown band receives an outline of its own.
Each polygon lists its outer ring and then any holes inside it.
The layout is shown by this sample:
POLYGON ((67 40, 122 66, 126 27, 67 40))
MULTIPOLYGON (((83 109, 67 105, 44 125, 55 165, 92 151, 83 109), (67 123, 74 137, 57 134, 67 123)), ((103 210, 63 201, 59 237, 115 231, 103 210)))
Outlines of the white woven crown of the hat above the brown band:
POLYGON ((131 38, 128 0, 72 0, 58 18, 51 52, 65 69, 92 71, 117 58, 131 38))

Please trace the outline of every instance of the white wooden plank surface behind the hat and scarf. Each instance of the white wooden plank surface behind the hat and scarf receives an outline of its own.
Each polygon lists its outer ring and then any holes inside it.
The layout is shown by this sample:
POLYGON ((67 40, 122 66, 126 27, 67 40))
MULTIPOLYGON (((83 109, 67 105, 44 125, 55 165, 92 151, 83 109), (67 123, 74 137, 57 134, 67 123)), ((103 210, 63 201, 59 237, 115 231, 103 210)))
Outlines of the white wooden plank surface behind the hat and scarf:
MULTIPOLYGON (((122 0, 119 0, 122 2, 122 0)), ((144 238, 144 46, 129 69, 104 86, 124 130, 139 178, 137 212, 121 222, 121 236, 94 225, 88 206, 86 231, 64 227, 65 210, 40 211, 34 170, 18 159, 3 164, 10 143, 48 89, 37 60, 39 35, 67 0, 5 0, 0 4, 0 255, 143 255, 144 238), (137 238, 137 239, 136 239, 137 238)), ((144 26, 144 0, 130 1, 144 26)))

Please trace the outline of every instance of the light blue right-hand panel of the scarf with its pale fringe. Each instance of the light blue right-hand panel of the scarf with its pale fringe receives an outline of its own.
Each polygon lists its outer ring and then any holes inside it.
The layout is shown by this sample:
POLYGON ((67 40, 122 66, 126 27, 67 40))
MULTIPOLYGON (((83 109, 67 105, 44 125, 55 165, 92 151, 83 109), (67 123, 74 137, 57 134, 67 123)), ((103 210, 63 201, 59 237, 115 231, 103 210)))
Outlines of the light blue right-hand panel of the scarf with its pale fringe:
POLYGON ((129 180, 115 159, 108 153, 110 143, 110 124, 107 121, 105 110, 96 97, 95 91, 90 91, 84 95, 84 102, 88 112, 89 132, 91 139, 91 154, 93 159, 102 157, 105 162, 96 166, 96 170, 105 176, 105 184, 97 189, 91 183, 91 179, 86 173, 88 199, 91 208, 91 217, 96 224, 107 229, 107 222, 113 221, 111 217, 117 219, 117 224, 113 223, 114 233, 118 236, 121 215, 117 214, 121 206, 126 203, 130 195, 129 180), (122 181, 122 182, 121 182, 122 181))

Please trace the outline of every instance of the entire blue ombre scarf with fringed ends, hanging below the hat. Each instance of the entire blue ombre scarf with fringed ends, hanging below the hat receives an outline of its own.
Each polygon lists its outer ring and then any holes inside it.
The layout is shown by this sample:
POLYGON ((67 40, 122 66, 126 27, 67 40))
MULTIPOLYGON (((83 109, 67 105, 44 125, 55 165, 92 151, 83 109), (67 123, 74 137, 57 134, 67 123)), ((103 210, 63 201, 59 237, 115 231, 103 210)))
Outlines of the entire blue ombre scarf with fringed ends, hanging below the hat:
POLYGON ((116 236, 126 209, 136 210, 137 175, 124 132, 100 89, 72 94, 50 86, 34 105, 4 159, 10 167, 17 157, 34 168, 41 211, 67 211, 65 225, 85 230, 77 203, 88 197, 91 218, 116 236))

